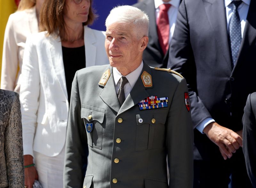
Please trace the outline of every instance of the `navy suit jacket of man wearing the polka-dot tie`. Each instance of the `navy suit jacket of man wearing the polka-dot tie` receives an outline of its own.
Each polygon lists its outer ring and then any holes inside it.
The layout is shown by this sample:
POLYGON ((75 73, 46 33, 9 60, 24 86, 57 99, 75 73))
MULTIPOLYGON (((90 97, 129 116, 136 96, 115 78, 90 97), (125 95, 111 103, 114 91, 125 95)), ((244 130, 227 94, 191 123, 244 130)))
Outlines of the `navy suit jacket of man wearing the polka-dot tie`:
MULTIPOLYGON (((256 91, 256 2, 251 0, 234 69, 222 0, 183 0, 170 45, 168 68, 184 76, 191 98, 194 127, 205 118, 234 131, 242 129, 246 98, 256 91)), ((218 147, 194 130, 195 159, 216 159, 218 147)))

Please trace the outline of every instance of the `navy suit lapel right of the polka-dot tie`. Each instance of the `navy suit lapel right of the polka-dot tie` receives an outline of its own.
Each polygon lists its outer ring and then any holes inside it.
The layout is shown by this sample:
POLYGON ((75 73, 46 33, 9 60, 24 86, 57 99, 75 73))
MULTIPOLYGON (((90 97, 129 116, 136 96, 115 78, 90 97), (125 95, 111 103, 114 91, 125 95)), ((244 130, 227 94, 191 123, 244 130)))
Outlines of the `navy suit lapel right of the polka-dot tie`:
POLYGON ((237 69, 241 64, 243 64, 243 56, 246 55, 249 51, 250 46, 253 44, 254 39, 256 38, 256 2, 251 0, 246 23, 244 26, 244 35, 241 42, 241 46, 237 55, 237 62, 235 64, 235 69, 237 69))

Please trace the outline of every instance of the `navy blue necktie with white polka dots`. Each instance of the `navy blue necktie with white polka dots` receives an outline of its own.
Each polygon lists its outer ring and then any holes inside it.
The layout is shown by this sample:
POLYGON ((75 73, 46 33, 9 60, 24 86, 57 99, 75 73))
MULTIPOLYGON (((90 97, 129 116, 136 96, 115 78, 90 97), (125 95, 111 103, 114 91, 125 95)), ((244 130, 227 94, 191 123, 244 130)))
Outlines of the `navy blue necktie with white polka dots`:
POLYGON ((233 13, 229 23, 230 49, 233 66, 236 64, 237 54, 242 41, 240 17, 237 11, 242 1, 232 1, 233 13))

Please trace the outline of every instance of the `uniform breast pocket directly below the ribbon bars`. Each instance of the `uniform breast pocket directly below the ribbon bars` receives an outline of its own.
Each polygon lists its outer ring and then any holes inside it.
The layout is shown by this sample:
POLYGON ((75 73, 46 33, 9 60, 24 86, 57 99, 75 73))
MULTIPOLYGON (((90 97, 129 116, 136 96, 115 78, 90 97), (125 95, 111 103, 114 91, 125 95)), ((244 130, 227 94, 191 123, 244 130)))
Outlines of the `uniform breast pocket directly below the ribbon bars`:
POLYGON ((163 147, 166 115, 165 111, 136 115, 135 151, 163 147))

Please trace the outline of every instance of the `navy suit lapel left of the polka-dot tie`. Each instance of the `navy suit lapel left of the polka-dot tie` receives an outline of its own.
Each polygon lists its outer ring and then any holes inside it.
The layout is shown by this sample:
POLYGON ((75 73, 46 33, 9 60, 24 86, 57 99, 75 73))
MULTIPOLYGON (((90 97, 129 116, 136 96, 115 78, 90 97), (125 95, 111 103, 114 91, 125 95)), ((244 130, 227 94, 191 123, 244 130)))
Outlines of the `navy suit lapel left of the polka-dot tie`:
POLYGON ((232 70, 224 2, 221 0, 203 0, 203 3, 206 15, 212 26, 215 40, 218 41, 219 48, 223 52, 223 56, 228 63, 228 67, 232 70))

